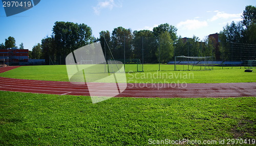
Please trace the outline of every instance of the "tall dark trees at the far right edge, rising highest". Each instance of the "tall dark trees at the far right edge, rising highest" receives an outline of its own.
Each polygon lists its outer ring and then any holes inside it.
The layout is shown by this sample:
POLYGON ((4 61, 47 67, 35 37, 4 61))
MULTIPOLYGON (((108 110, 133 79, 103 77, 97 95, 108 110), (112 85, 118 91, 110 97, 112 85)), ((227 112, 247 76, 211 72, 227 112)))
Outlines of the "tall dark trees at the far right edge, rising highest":
MULTIPOLYGON (((245 50, 233 50, 233 45, 240 44, 253 44, 254 50, 251 54, 255 56, 256 45, 256 7, 246 6, 243 14, 242 21, 227 24, 220 32, 220 52, 223 60, 232 60, 233 54, 240 54, 245 50)), ((249 52, 250 53, 250 52, 249 52)), ((242 60, 242 59, 241 59, 242 60)))

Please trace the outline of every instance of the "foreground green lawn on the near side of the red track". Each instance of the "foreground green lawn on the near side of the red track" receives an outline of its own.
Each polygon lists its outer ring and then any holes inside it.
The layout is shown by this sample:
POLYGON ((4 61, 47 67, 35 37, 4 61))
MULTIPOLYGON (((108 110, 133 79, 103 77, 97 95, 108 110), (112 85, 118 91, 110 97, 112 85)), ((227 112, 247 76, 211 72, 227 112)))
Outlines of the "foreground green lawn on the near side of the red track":
MULTIPOLYGON (((256 138, 256 98, 111 98, 0 91, 2 145, 147 145, 256 138)), ((186 144, 185 144, 186 145, 186 144)))

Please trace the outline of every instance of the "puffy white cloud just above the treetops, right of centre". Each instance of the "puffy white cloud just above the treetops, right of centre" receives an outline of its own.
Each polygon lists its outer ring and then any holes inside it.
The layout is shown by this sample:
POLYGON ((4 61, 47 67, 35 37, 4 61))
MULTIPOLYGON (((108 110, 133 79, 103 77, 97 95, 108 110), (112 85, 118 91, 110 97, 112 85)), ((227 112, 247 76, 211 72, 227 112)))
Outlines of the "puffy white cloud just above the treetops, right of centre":
POLYGON ((199 21, 199 20, 186 20, 181 21, 177 24, 177 27, 181 30, 197 30, 198 28, 207 26, 208 23, 206 21, 199 21))

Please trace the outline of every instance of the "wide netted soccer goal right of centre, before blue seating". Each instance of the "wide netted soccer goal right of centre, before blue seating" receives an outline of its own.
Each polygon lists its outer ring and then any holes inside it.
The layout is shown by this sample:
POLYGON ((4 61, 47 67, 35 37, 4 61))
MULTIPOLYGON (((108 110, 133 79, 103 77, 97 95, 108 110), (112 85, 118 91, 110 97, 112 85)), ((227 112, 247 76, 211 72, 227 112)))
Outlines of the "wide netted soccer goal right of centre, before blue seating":
POLYGON ((212 56, 175 56, 174 70, 211 70, 216 64, 212 56))

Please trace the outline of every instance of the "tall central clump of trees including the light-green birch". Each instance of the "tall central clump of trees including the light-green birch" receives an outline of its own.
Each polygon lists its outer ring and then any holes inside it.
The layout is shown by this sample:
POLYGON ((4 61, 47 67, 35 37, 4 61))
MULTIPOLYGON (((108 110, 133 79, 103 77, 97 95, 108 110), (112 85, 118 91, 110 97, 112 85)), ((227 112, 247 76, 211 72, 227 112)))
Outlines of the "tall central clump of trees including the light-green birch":
POLYGON ((109 31, 101 31, 99 41, 106 47, 106 59, 111 59, 109 49, 115 59, 142 59, 145 62, 157 62, 159 56, 161 62, 167 62, 174 55, 174 40, 177 40, 177 28, 168 23, 160 24, 153 31, 134 31, 123 27, 114 28, 112 34, 109 31), (125 55, 124 55, 125 53, 125 55))

